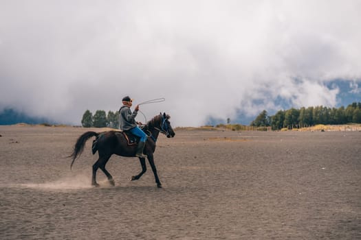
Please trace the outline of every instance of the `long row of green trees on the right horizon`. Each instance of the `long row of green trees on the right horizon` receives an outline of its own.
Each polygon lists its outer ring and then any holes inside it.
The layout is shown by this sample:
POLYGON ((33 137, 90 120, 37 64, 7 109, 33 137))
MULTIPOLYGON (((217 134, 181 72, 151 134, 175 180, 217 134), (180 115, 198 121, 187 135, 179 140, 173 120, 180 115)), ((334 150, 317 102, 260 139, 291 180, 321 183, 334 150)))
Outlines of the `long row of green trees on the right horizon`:
POLYGON ((263 110, 250 125, 254 127, 272 127, 272 130, 282 128, 303 128, 317 124, 340 125, 346 123, 361 123, 361 102, 349 104, 347 108, 328 108, 325 106, 291 108, 278 110, 275 115, 268 116, 263 110))

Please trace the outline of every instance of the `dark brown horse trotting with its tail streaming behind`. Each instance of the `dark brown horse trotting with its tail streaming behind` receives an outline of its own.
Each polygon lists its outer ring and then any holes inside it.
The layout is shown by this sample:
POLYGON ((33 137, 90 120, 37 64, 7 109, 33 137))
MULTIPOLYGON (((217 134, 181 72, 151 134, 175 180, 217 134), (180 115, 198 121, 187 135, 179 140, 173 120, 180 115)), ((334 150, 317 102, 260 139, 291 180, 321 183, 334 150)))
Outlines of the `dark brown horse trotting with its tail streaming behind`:
MULTIPOLYGON (((148 121, 143 128, 144 132, 146 132, 148 135, 143 154, 145 154, 149 160, 149 164, 151 165, 151 168, 153 170, 155 182, 157 183, 158 188, 161 188, 162 184, 160 183, 157 175, 157 168, 155 167, 153 153, 155 152, 155 143, 157 142, 157 138, 160 133, 166 135, 167 138, 173 138, 175 136, 175 132, 173 131, 173 128, 171 127, 171 123, 169 121, 170 118, 171 117, 169 115, 166 115, 165 112, 164 114, 162 114, 161 112, 160 115, 156 115, 155 117, 153 117, 153 119, 151 119, 151 121, 148 121)), ((92 146, 93 154, 98 151, 99 158, 93 165, 91 185, 95 187, 99 186, 99 184, 96 182, 96 171, 98 171, 98 169, 100 168, 107 176, 109 183, 112 186, 115 186, 113 176, 111 176, 109 171, 105 169, 105 165, 107 165, 109 158, 113 154, 124 157, 135 157, 137 145, 129 145, 129 138, 127 138, 127 136, 125 136, 122 131, 111 130, 100 133, 92 131, 85 132, 84 134, 79 136, 78 140, 74 145, 74 151, 69 156, 70 158, 72 158, 72 164, 70 165, 70 169, 72 169, 76 158, 80 156, 80 154, 82 154, 85 143, 92 136, 96 136, 96 140, 94 140, 92 146)), ((145 158, 139 158, 139 160, 140 165, 142 165, 142 171, 138 175, 132 176, 132 181, 140 179, 140 177, 146 172, 145 158)))

